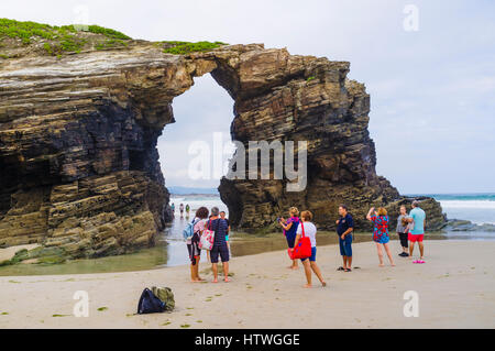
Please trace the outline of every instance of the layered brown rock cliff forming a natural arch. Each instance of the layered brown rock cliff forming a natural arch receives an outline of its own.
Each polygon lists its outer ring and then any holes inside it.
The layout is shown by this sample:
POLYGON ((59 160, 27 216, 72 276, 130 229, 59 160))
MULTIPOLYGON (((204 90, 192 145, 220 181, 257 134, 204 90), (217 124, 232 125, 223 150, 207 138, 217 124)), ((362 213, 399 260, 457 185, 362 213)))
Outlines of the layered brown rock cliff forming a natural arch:
MULTIPOLYGON (((348 72, 349 63, 258 44, 172 55, 136 42, 2 61, 0 246, 37 242, 76 257, 152 245, 170 219, 156 141, 174 122, 174 97, 207 73, 235 101, 233 140, 308 141, 304 191, 287 191, 285 180, 221 179, 234 227, 270 228, 297 206, 332 228, 345 202, 367 229, 369 206, 409 200, 375 173, 370 96, 348 72)), ((438 228, 441 208, 428 201, 438 228)))

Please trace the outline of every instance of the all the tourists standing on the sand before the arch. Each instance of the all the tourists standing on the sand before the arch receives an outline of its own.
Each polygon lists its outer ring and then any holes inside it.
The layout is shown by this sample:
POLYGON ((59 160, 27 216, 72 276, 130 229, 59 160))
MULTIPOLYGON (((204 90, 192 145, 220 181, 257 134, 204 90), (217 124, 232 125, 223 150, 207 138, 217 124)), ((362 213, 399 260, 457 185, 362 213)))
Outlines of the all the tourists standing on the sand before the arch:
MULTIPOLYGON (((180 204, 183 206, 183 204, 180 204)), ((414 261, 414 263, 425 263, 424 261, 424 235, 425 235, 425 221, 426 213, 419 207, 419 201, 415 200, 411 204, 411 210, 407 215, 406 206, 400 207, 400 215, 397 218, 396 232, 399 237, 402 252, 399 256, 411 257, 415 243, 418 242, 420 260, 414 261), (409 251, 409 252, 407 252, 409 251)), ((376 250, 380 260, 380 266, 384 266, 384 253, 387 254, 388 261, 392 266, 395 266, 394 259, 392 256, 389 248, 389 218, 387 210, 383 207, 375 210, 374 207, 370 209, 366 215, 366 219, 373 223, 373 241, 376 244, 376 250)), ((322 286, 326 286, 321 271, 316 262, 317 255, 317 228, 311 222, 312 213, 309 210, 300 212, 296 207, 290 207, 288 210, 288 218, 278 218, 277 221, 284 230, 284 235, 287 240, 287 245, 290 252, 294 253, 295 248, 298 248, 302 237, 308 237, 311 245, 311 252, 309 257, 300 259, 307 284, 305 287, 311 287, 311 271, 318 277, 322 286)), ((191 222, 194 227, 194 234, 187 239, 187 249, 189 251, 190 265, 190 278, 191 282, 202 282, 199 276, 199 260, 201 255, 201 235, 205 230, 213 231, 213 242, 211 249, 208 250, 208 260, 211 262, 211 270, 213 273, 213 283, 218 283, 218 262, 219 259, 222 262, 223 281, 229 282, 229 231, 230 223, 226 218, 224 211, 219 211, 218 207, 212 207, 209 211, 206 207, 200 207, 196 210, 195 218, 191 222)), ((337 234, 339 237, 339 249, 342 256, 342 266, 338 271, 352 272, 352 241, 354 231, 354 220, 345 205, 339 206, 339 219, 336 222, 337 234)), ((309 250, 309 246, 308 246, 309 250)), ((292 264, 288 268, 297 270, 298 260, 292 259, 292 264)))

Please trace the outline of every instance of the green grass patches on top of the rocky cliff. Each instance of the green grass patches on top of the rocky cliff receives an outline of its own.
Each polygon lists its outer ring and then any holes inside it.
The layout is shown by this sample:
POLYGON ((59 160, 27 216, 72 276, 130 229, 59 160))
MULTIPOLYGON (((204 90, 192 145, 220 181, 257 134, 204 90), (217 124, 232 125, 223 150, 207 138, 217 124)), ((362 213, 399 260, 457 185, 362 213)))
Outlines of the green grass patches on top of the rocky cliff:
MULTIPOLYGON (((128 47, 132 37, 100 25, 50 25, 32 21, 0 19, 0 58, 20 57, 34 51, 41 55, 61 56, 91 50, 128 47)), ((155 44, 164 53, 187 55, 205 52, 221 45, 222 42, 179 42, 163 41, 155 44)))

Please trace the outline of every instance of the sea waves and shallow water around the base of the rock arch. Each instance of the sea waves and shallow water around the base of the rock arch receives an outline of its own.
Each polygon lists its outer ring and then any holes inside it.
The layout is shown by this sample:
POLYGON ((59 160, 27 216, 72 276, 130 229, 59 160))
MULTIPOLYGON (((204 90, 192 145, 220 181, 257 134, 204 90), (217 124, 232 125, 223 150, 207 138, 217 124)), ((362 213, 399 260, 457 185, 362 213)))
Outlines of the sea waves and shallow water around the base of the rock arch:
MULTIPOLYGON (((440 201, 443 212, 447 212, 449 219, 468 219, 477 224, 495 223, 495 194, 430 194, 440 201)), ((100 273, 100 272, 127 272, 151 270, 165 266, 175 266, 188 264, 188 252, 183 238, 183 230, 188 221, 194 219, 196 209, 200 206, 218 207, 220 211, 224 210, 227 217, 229 211, 219 196, 212 195, 180 195, 172 196, 170 202, 175 204, 174 220, 167 224, 165 230, 156 238, 156 245, 151 249, 144 249, 136 253, 120 256, 107 256, 89 260, 74 260, 64 264, 38 265, 38 264, 16 264, 0 267, 0 275, 51 275, 51 274, 80 274, 80 273, 100 273), (189 217, 180 217, 178 207, 188 204, 191 208, 189 217)), ((354 242, 371 241, 370 233, 354 235, 354 242)), ((248 237, 238 240, 235 231, 232 232, 231 253, 232 257, 256 254, 267 251, 285 250, 286 241, 282 231, 271 234, 266 238, 248 237)), ((397 238, 394 238, 396 240, 397 238)), ((428 233, 428 240, 494 240, 493 232, 457 232, 457 233, 428 233)), ((332 232, 320 232, 318 235, 318 245, 336 244, 337 235, 332 232)), ((338 260, 339 257, 336 257, 338 260)), ((201 253, 201 266, 207 262, 206 252, 201 253)))

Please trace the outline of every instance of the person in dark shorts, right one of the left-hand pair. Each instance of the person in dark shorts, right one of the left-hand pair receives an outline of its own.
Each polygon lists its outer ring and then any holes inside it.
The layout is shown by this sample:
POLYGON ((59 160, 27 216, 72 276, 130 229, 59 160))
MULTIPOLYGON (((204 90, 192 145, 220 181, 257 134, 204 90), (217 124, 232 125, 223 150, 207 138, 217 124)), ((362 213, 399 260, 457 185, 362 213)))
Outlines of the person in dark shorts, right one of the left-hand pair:
POLYGON ((208 221, 208 229, 215 231, 213 246, 210 250, 211 271, 213 271, 213 283, 218 283, 218 256, 222 260, 223 281, 229 279, 229 248, 227 246, 226 233, 227 221, 219 216, 218 207, 211 208, 211 217, 208 221))

